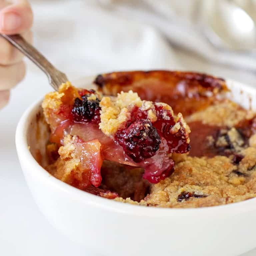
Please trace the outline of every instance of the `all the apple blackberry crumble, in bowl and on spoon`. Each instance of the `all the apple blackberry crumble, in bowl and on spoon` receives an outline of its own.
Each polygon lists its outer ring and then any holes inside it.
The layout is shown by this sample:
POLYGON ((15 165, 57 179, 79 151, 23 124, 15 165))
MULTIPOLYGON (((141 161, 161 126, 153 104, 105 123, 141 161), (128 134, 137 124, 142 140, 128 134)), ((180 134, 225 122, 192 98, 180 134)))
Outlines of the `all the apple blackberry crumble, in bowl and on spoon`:
POLYGON ((96 90, 86 90, 67 82, 45 96, 44 167, 53 176, 144 206, 256 197, 256 115, 225 97, 223 79, 133 71, 99 75, 94 83, 96 90))

